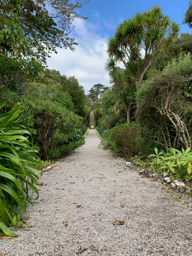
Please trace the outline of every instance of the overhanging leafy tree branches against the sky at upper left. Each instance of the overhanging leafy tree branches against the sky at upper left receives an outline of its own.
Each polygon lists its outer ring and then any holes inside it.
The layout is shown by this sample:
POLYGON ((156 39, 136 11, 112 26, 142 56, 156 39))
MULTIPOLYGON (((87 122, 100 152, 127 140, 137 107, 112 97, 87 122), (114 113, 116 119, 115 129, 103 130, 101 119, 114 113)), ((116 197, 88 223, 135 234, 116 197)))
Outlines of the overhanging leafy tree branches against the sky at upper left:
MULTIPOLYGON (((86 19, 77 10, 90 0, 81 3, 71 0, 5 0, 0 1, 1 20, 12 20, 17 14, 20 27, 28 38, 32 55, 46 62, 56 47, 69 47, 74 50, 77 44, 70 37, 75 18, 86 19)), ((2 25, 1 25, 2 26, 2 25)))

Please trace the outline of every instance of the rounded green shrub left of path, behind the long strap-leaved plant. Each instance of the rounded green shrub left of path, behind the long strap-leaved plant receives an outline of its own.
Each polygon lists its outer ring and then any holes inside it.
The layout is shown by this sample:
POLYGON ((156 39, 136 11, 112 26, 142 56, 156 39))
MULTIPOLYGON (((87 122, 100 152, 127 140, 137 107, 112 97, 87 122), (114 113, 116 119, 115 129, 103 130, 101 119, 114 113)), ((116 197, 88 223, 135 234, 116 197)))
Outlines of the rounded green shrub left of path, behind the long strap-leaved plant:
POLYGON ((44 160, 61 157, 68 153, 67 149, 71 148, 72 144, 77 145, 78 141, 82 143, 83 118, 60 103, 28 101, 28 108, 24 109, 22 114, 22 118, 28 116, 27 125, 36 130, 34 141, 44 160))

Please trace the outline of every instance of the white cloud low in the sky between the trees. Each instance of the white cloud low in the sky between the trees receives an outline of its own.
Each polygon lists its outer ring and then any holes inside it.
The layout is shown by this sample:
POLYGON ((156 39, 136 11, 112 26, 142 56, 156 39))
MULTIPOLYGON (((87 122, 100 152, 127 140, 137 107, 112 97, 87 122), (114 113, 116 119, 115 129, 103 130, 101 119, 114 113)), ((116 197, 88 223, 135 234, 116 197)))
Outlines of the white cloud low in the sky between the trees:
POLYGON ((69 49, 57 49, 58 54, 52 54, 47 59, 50 69, 59 70, 61 75, 75 76, 85 93, 94 84, 110 86, 109 76, 105 71, 107 61, 107 36, 96 33, 97 24, 87 20, 75 20, 75 38, 78 45, 74 52, 69 49))

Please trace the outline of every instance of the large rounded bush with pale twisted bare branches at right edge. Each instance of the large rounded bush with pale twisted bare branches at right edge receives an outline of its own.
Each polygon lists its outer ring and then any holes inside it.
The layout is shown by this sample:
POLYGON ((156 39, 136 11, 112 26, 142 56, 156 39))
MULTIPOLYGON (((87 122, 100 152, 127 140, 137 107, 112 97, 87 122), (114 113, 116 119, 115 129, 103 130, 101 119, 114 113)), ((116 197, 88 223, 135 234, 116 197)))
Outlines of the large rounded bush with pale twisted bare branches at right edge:
POLYGON ((181 54, 162 71, 150 71, 137 92, 138 121, 156 131, 156 144, 167 152, 191 147, 191 70, 190 54, 181 54))

